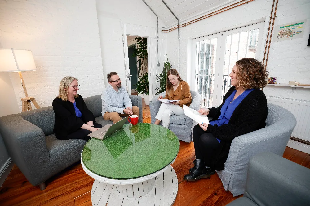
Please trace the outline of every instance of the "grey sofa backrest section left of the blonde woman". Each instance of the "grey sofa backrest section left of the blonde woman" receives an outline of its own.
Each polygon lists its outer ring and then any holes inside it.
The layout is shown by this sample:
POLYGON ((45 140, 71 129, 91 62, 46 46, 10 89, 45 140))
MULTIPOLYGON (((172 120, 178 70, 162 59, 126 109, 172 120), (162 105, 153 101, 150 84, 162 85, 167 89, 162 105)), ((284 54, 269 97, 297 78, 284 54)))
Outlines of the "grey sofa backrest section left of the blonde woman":
POLYGON ((21 112, 18 115, 42 129, 44 135, 53 134, 55 113, 52 106, 21 112))

